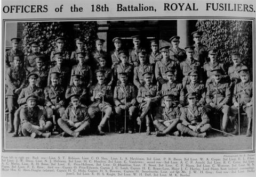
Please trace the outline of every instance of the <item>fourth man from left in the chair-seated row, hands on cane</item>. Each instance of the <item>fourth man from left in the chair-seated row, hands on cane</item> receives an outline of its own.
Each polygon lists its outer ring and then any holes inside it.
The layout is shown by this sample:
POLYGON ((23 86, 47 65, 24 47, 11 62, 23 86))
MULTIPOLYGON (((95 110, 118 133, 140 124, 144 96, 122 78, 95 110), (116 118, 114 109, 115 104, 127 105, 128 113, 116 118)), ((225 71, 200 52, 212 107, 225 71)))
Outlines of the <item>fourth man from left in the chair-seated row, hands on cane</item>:
POLYGON ((102 128, 106 125, 106 122, 112 112, 112 108, 109 103, 113 100, 113 94, 110 86, 105 84, 105 71, 98 70, 96 71, 96 75, 98 83, 90 88, 89 95, 93 103, 89 106, 88 113, 91 119, 93 119, 95 114, 98 112, 103 111, 105 113, 105 115, 101 117, 102 119, 98 125, 98 134, 105 135, 102 128))

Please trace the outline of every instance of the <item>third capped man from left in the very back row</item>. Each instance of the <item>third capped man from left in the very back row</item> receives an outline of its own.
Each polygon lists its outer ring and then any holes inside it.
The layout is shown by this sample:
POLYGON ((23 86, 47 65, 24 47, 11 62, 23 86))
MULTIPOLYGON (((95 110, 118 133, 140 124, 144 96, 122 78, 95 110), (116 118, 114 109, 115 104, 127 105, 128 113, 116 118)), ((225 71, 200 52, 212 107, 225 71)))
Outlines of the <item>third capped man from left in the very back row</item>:
POLYGON ((65 60, 65 65, 68 65, 70 60, 70 54, 67 50, 65 50, 65 38, 58 37, 55 39, 55 43, 57 45, 57 48, 55 48, 51 52, 51 62, 55 61, 55 53, 59 53, 63 57, 63 60, 65 60))

